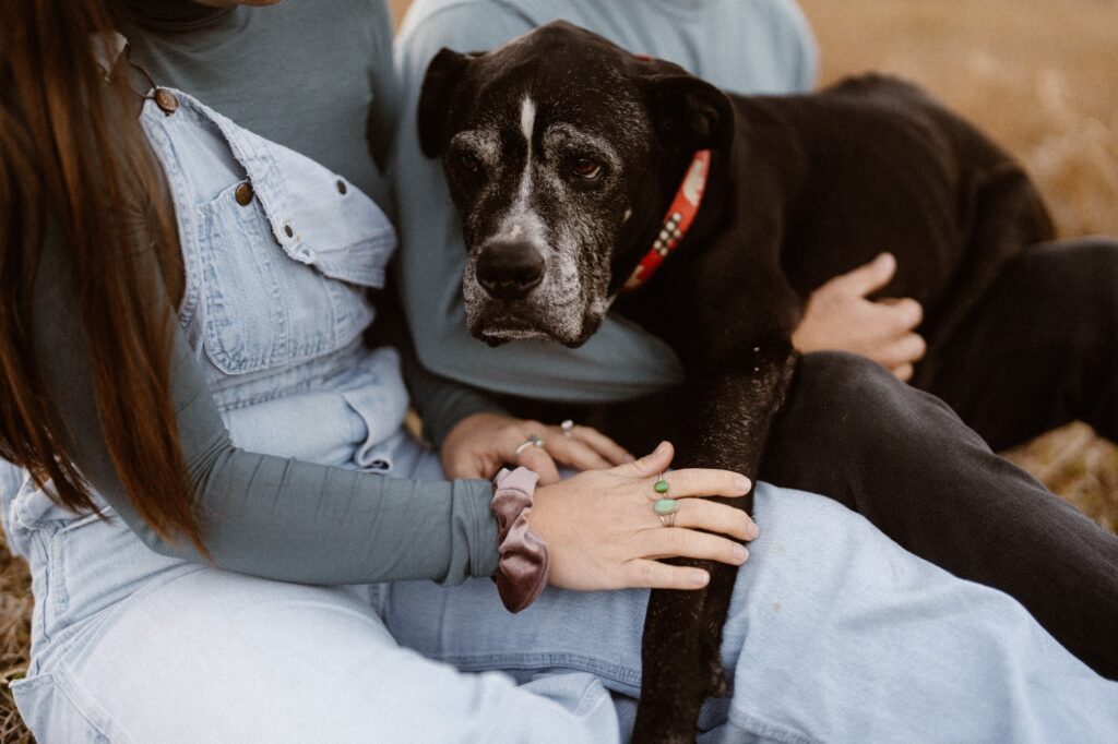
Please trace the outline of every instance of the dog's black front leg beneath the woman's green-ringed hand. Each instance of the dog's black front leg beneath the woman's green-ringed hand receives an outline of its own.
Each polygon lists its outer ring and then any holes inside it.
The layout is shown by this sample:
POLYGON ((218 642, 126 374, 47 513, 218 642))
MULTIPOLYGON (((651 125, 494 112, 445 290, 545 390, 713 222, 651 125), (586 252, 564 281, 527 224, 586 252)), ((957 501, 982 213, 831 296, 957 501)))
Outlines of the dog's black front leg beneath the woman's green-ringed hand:
MULTIPOLYGON (((697 370, 689 375, 680 407, 686 411, 689 426, 679 442, 679 467, 726 468, 756 478, 796 356, 783 344, 743 356, 751 356, 747 371, 709 374, 697 370)), ((752 492, 740 499, 714 500, 752 513, 752 492)), ((708 570, 711 581, 700 591, 652 592, 633 732, 637 743, 694 741, 703 700, 729 691, 720 648, 737 570, 707 561, 680 563, 708 570)))

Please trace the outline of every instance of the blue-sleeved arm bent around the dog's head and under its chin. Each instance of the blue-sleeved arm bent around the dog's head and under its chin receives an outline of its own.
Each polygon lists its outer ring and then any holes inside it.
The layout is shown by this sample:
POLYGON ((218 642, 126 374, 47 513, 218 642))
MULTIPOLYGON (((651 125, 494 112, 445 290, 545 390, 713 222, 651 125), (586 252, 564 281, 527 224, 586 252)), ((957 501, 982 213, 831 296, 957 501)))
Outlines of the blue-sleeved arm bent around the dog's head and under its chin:
POLYGON ((397 278, 419 359, 438 374, 477 388, 551 400, 620 400, 676 384, 682 368, 671 349, 624 319, 607 317, 575 350, 542 341, 490 349, 466 330, 461 225, 439 162, 419 151, 419 87, 444 39, 454 39, 461 50, 489 49, 531 28, 513 11, 451 6, 418 27, 405 23, 398 38, 402 108, 390 158, 401 242, 397 278))

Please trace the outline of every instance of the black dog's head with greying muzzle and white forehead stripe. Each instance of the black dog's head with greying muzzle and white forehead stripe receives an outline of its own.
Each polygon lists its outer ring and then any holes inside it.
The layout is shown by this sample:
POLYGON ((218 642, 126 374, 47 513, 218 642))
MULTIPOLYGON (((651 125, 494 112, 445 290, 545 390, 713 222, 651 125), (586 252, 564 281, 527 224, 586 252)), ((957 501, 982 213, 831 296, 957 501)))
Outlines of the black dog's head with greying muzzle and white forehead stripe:
POLYGON ((718 88, 557 21, 427 68, 419 140, 443 158, 468 252, 470 331, 578 346, 660 227, 695 150, 727 150, 718 88))

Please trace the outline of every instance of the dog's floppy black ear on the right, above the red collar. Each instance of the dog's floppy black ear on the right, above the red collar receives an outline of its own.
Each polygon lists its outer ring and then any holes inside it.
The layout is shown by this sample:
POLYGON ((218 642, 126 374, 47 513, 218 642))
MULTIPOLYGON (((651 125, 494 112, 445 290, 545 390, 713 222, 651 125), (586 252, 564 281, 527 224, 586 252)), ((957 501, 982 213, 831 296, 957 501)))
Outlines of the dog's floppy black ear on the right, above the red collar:
POLYGON ((670 146, 727 151, 733 140, 733 105, 720 89, 666 63, 646 78, 648 109, 670 146), (673 69, 674 68, 674 69, 673 69))

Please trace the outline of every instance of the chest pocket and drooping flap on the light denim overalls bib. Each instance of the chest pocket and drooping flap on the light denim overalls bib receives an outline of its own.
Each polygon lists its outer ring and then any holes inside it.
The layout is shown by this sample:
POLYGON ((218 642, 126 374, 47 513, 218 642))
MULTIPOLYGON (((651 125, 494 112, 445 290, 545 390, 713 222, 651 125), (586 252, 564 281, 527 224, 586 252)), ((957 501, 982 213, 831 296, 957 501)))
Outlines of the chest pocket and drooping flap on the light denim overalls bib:
POLYGON ((364 289, 383 286, 395 232, 368 197, 313 165, 282 200, 246 181, 198 207, 203 345, 226 374, 329 354, 372 322, 364 289), (297 208, 273 217, 277 202, 297 208))

